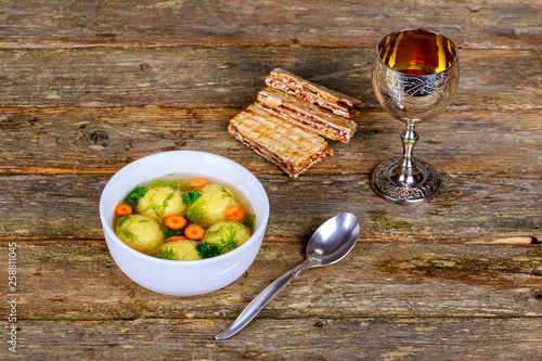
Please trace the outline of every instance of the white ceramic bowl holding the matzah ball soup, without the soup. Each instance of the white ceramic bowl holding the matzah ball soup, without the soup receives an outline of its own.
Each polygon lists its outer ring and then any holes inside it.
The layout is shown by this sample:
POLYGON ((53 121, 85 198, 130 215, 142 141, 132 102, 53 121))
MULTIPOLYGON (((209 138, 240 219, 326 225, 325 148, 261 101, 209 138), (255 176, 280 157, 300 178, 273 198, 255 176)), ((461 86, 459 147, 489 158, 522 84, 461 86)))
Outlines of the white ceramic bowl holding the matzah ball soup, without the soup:
POLYGON ((250 267, 266 232, 269 199, 258 179, 233 160, 204 152, 164 152, 130 163, 111 178, 100 198, 100 218, 109 253, 128 278, 157 293, 193 296, 229 285, 250 267), (224 255, 193 261, 159 259, 127 246, 112 227, 115 206, 137 185, 171 173, 197 175, 232 185, 256 214, 253 236, 224 255))

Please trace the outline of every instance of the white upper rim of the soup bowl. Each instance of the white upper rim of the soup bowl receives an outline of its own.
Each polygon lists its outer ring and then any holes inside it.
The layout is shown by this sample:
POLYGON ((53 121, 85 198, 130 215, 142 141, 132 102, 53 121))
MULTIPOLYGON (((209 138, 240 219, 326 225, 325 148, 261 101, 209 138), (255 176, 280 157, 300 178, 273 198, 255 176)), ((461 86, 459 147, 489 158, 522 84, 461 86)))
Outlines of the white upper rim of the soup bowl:
MULTIPOLYGON (((159 177, 160 176, 158 176, 156 178, 159 178, 159 177)), ((219 178, 220 177, 217 177, 217 179, 219 179, 219 178)), ((247 201, 254 207, 254 205, 250 202, 250 199, 247 199, 247 201)), ((154 153, 154 154, 151 154, 151 155, 146 155, 146 156, 138 158, 138 159, 136 159, 133 162, 130 162, 129 164, 127 164, 122 168, 120 168, 118 171, 116 171, 115 175, 113 175, 109 178, 109 180, 107 181, 107 183, 103 188, 102 194, 100 196, 100 219, 102 221, 102 229, 103 229, 104 235, 105 235, 105 233, 107 233, 107 235, 108 235, 108 237, 106 237, 105 241, 107 243, 114 242, 116 245, 119 245, 121 247, 121 249, 124 249, 124 252, 129 253, 133 257, 141 258, 141 259, 150 261, 152 263, 157 263, 157 265, 162 265, 162 266, 175 266, 175 267, 180 267, 180 268, 184 268, 184 267, 189 268, 189 267, 193 267, 194 265, 206 266, 206 265, 212 265, 212 263, 219 263, 219 262, 222 262, 222 261, 227 261, 230 258, 235 258, 237 256, 237 254, 243 253, 245 248, 248 248, 253 243, 256 243, 258 238, 261 237, 261 240, 263 240, 266 228, 267 228, 267 223, 269 221, 269 197, 267 195, 267 192, 266 192, 263 185, 258 180, 258 178, 256 178, 256 176, 253 175, 253 172, 250 172, 248 169, 246 169, 245 167, 243 167, 242 165, 240 165, 238 163, 236 163, 236 162, 234 162, 234 160, 232 160, 230 158, 227 158, 227 157, 218 155, 218 154, 208 153, 208 152, 199 152, 199 151, 168 151, 168 152, 159 152, 159 153, 154 153), (117 178, 120 177, 120 176, 117 176, 117 175, 119 175, 121 172, 129 171, 130 168, 136 167, 140 163, 149 162, 152 158, 164 157, 164 156, 168 156, 168 155, 171 155, 171 154, 183 154, 183 155, 184 154, 189 154, 190 155, 190 153, 203 154, 205 156, 210 156, 210 157, 214 157, 214 158, 227 162, 229 164, 232 164, 235 167, 237 167, 238 169, 241 169, 244 172, 246 172, 246 175, 248 177, 251 177, 254 180, 256 180, 256 184, 257 184, 258 191, 261 191, 261 194, 262 194, 262 196, 263 196, 263 198, 264 198, 266 202, 264 202, 264 205, 263 205, 263 214, 262 215, 258 215, 258 219, 260 219, 260 220, 259 221, 257 220, 257 225, 256 225, 256 228, 254 230, 254 233, 251 234, 250 238, 248 238, 241 246, 238 246, 235 249, 232 249, 232 250, 230 250, 230 252, 228 252, 225 254, 222 254, 222 255, 219 255, 219 256, 216 256, 216 257, 211 257, 211 258, 196 259, 196 260, 185 260, 185 261, 162 259, 162 258, 149 256, 149 255, 145 255, 143 253, 140 253, 140 252, 133 249, 132 247, 128 246, 126 243, 124 243, 122 241, 120 241, 120 238, 118 238, 117 235, 115 234, 115 232, 113 230, 113 225, 109 224, 107 216, 105 215, 106 214, 106 209, 105 209, 105 205, 104 205, 104 197, 105 197, 105 193, 106 193, 105 191, 108 189, 109 183, 112 181, 114 181, 116 177, 117 178), (109 241, 109 240, 112 240, 112 241, 109 241)))

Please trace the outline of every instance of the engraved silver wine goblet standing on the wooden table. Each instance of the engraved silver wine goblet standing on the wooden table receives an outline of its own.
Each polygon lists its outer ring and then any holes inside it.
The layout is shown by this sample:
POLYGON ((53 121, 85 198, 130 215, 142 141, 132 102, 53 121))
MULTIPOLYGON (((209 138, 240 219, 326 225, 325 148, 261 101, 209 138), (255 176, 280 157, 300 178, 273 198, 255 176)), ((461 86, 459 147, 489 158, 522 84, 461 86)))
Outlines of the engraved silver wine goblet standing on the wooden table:
POLYGON ((406 128, 403 156, 380 163, 371 185, 386 201, 400 204, 430 198, 440 186, 437 170, 414 158, 417 123, 440 114, 451 102, 460 79, 454 43, 435 31, 404 29, 385 36, 376 47, 373 89, 380 105, 406 128))

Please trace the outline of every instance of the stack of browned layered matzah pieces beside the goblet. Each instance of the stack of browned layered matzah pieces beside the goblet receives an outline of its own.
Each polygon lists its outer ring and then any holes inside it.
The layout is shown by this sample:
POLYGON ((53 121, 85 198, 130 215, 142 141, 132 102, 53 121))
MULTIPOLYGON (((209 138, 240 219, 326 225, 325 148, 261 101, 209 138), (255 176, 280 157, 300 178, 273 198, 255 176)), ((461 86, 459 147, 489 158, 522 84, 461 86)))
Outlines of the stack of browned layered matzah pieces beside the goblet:
POLYGON ((348 143, 356 132, 356 123, 346 118, 361 101, 283 69, 271 72, 266 82, 269 87, 230 120, 228 131, 291 177, 333 155, 319 134, 348 143))

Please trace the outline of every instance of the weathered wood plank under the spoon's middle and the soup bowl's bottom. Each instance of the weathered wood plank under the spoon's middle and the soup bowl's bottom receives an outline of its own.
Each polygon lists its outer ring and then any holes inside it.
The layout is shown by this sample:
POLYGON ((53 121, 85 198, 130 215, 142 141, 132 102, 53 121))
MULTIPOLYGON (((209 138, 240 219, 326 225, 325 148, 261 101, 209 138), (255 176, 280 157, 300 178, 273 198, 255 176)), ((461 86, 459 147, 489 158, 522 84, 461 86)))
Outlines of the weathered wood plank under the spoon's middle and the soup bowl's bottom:
MULTIPOLYGON (((172 297, 130 281, 104 242, 16 243, 21 320, 232 319, 305 258, 302 240, 264 242, 231 285, 172 297)), ((3 255, 7 248, 2 242, 3 255)), ((538 244, 360 242, 339 265, 299 275, 259 318, 541 318, 541 256, 538 244)), ((0 268, 8 269, 7 262, 2 257, 0 268)), ((0 304, 2 312, 8 307, 0 304)))

